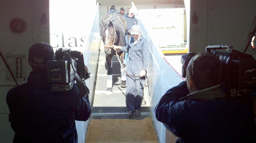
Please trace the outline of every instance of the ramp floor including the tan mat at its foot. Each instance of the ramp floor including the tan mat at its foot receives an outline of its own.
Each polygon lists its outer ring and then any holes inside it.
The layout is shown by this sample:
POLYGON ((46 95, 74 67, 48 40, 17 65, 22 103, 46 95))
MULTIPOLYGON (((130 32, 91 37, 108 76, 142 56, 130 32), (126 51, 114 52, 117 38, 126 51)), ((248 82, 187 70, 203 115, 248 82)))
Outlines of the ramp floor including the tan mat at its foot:
POLYGON ((113 87, 112 94, 108 95, 106 94, 107 63, 105 53, 101 51, 91 102, 92 115, 85 142, 134 143, 144 141, 157 143, 152 114, 145 100, 142 101, 140 117, 126 115, 128 112, 125 103, 126 88, 121 87, 120 64, 117 56, 113 56, 112 65, 114 67, 113 87))

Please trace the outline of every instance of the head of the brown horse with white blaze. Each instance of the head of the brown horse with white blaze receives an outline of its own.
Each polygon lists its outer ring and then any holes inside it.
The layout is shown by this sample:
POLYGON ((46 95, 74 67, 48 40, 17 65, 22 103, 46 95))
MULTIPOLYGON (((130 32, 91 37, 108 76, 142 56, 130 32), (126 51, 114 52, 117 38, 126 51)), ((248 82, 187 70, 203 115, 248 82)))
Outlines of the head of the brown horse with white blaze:
POLYGON ((109 24, 102 24, 104 28, 101 27, 101 37, 104 43, 104 48, 113 48, 115 42, 117 41, 115 27, 111 21, 109 21, 109 24))

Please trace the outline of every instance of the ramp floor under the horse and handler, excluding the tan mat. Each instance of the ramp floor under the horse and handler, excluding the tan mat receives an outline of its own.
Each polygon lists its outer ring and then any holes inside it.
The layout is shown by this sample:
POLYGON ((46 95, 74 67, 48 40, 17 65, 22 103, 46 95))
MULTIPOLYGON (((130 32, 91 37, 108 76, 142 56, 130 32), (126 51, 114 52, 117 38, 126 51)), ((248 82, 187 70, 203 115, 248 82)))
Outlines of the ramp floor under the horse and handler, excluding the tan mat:
POLYGON ((127 116, 126 89, 121 87, 120 64, 117 56, 113 56, 112 66, 114 67, 113 87, 112 94, 108 95, 106 94, 107 63, 104 51, 100 51, 95 90, 91 101, 91 119, 144 119, 152 117, 150 108, 146 106, 145 100, 142 101, 140 117, 135 115, 132 117, 127 116))

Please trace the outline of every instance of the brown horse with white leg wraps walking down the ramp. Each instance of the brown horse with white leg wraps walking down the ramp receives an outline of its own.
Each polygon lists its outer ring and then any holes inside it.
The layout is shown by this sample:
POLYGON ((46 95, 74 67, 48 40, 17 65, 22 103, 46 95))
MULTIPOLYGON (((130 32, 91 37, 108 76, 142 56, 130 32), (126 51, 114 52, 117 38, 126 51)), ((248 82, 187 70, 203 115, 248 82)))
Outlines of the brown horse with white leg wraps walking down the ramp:
MULTIPOLYGON (((112 94, 112 57, 118 55, 123 66, 125 66, 124 52, 113 49, 113 46, 126 46, 126 21, 122 15, 117 13, 107 14, 102 18, 101 37, 104 43, 104 52, 106 53, 106 62, 108 66, 107 94, 112 94)), ((121 70, 121 87, 125 87, 126 76, 123 68, 121 70)))

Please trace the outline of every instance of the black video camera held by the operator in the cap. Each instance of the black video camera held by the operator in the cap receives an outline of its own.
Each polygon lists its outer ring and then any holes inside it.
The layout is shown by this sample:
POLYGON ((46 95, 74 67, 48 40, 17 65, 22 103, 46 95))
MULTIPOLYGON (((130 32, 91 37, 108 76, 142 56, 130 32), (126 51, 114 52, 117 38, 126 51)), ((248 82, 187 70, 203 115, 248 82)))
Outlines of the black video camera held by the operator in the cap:
MULTIPOLYGON (((46 62, 47 82, 50 83, 51 90, 69 91, 78 79, 86 87, 85 80, 90 77, 90 72, 84 65, 83 54, 71 49, 59 48, 55 55, 53 60, 46 62)), ((86 93, 88 91, 86 90, 86 93)))

